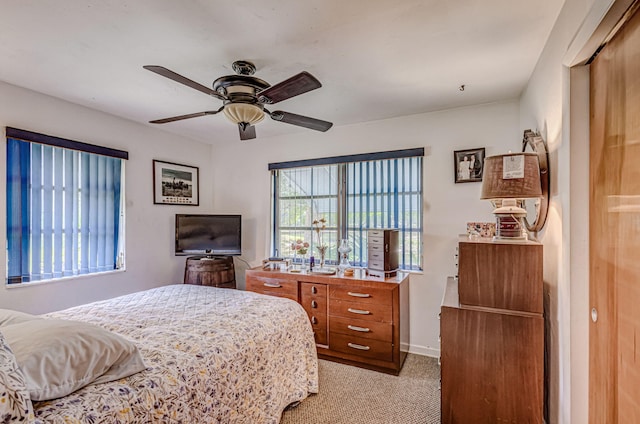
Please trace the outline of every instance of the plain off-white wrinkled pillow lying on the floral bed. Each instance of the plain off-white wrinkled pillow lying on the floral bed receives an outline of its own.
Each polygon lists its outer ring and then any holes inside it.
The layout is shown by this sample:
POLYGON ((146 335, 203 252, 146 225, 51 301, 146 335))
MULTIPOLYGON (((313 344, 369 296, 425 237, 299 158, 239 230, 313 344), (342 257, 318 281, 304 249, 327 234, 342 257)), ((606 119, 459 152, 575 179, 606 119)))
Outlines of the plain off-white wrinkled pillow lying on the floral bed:
POLYGON ((137 346, 97 325, 36 319, 2 327, 25 375, 31 400, 66 396, 145 369, 137 346))

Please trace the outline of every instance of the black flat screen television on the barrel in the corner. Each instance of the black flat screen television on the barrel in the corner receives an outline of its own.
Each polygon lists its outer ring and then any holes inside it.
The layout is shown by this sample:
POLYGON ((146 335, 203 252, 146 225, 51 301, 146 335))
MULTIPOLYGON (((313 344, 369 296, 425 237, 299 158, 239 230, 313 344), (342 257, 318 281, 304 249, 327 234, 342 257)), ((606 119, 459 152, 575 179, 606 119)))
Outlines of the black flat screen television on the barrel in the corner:
POLYGON ((176 255, 242 254, 240 215, 176 214, 176 255))

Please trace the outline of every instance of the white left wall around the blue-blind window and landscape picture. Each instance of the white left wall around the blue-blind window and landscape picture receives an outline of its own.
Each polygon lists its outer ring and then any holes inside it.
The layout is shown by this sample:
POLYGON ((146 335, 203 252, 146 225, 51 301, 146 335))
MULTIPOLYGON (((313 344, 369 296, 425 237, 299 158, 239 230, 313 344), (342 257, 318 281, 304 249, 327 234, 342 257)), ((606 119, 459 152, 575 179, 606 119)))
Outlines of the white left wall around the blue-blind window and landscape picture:
MULTIPOLYGON (((184 258, 173 255, 176 213, 209 212, 211 146, 96 112, 33 91, 0 83, 0 126, 127 150, 126 271, 47 284, 7 288, 0 284, 0 308, 44 313, 169 283, 180 283, 184 258), (198 166, 200 206, 153 204, 152 160, 198 166)), ((6 139, 0 141, 0 240, 6 239, 6 139)), ((6 251, 0 253, 6 275, 6 251)))

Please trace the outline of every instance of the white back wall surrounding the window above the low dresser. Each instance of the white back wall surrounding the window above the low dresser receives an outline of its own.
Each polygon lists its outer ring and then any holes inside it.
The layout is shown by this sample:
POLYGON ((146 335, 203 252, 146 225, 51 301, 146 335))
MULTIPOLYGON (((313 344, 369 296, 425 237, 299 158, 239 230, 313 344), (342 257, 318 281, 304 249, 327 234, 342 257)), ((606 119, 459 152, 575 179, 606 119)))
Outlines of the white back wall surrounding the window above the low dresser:
MULTIPOLYGON (((283 124, 286 125, 286 124, 283 124)), ((316 157, 424 147, 424 273, 411 275, 411 351, 439 355, 440 302, 455 274, 457 235, 468 221, 493 221, 481 183, 454 183, 453 151, 485 147, 487 156, 519 151, 516 101, 334 127, 326 133, 233 141, 213 153, 214 210, 243 215, 243 259, 269 256, 270 174, 267 164, 316 157)), ((243 264, 236 261, 239 286, 243 264)), ((246 266, 245 266, 246 268, 246 266)))

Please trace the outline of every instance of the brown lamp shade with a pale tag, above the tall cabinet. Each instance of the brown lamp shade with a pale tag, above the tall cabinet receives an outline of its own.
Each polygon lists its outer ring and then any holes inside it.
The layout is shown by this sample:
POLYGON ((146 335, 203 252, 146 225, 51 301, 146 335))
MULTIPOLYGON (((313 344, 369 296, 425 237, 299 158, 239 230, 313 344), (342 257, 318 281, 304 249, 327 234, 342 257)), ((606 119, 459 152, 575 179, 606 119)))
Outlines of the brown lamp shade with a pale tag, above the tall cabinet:
POLYGON ((508 153, 485 158, 481 199, 537 197, 542 197, 537 154, 508 153))

